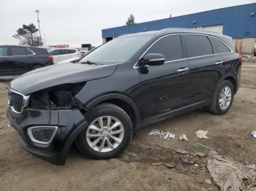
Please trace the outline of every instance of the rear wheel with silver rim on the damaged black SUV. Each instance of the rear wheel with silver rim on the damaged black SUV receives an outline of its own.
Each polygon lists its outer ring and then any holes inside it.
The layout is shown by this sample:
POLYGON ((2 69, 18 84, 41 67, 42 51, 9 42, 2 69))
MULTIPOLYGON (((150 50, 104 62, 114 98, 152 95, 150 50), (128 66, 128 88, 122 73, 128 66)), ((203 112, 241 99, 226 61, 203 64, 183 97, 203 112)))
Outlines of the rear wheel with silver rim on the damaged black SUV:
MULTIPOLYGON (((229 94, 227 94, 227 95, 229 95, 229 94)), ((214 114, 225 114, 232 106, 233 98, 234 98, 233 84, 228 80, 224 80, 217 86, 217 89, 215 90, 215 93, 214 93, 214 98, 211 102, 211 106, 209 106, 208 109, 214 114), (220 99, 221 99, 221 96, 223 93, 222 90, 225 92, 225 90, 228 90, 228 88, 230 90, 230 98, 227 98, 229 96, 224 96, 227 100, 227 105, 225 105, 225 104, 222 104, 223 99, 222 99, 222 101, 220 101, 220 99), (228 101, 230 101, 230 102, 228 102, 228 101), (226 106, 226 108, 225 108, 225 106, 226 106)), ((224 103, 225 103, 225 101, 224 101, 224 103)))

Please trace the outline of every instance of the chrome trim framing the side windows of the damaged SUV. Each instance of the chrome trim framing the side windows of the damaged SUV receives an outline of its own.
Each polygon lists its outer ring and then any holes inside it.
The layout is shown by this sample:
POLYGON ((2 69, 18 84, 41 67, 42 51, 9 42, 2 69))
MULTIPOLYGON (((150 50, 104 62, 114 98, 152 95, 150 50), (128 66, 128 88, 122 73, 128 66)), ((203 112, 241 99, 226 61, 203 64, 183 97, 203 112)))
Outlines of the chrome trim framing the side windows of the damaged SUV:
MULTIPOLYGON (((140 56, 140 58, 143 57, 143 55, 146 54, 146 52, 148 52, 148 50, 155 44, 157 43, 160 39, 163 39, 167 36, 173 36, 173 35, 198 35, 198 36, 211 36, 213 38, 218 39, 220 42, 222 42, 223 44, 225 44, 225 46, 230 50, 230 52, 223 52, 223 53, 218 53, 218 54, 211 54, 211 55, 199 55, 199 56, 195 56, 195 57, 189 57, 189 58, 181 58, 181 59, 177 59, 177 60, 173 60, 173 61, 165 61, 165 63, 171 63, 171 62, 175 62, 175 61, 184 61, 184 60, 189 60, 189 59, 193 59, 193 58, 201 58, 201 57, 206 57, 206 56, 212 56, 212 55, 224 55, 224 54, 229 54, 229 53, 233 53, 234 51, 225 43, 222 41, 222 39, 219 39, 216 36, 212 36, 210 34, 193 34, 193 33, 181 33, 181 34, 167 34, 165 36, 161 36, 159 39, 156 39, 144 52, 143 54, 140 56)), ((138 61, 140 61, 140 58, 138 59, 138 61)), ((133 66, 133 69, 138 69, 140 68, 140 66, 138 65, 138 61, 136 61, 135 65, 133 66)), ((145 66, 144 66, 145 67, 145 66)))

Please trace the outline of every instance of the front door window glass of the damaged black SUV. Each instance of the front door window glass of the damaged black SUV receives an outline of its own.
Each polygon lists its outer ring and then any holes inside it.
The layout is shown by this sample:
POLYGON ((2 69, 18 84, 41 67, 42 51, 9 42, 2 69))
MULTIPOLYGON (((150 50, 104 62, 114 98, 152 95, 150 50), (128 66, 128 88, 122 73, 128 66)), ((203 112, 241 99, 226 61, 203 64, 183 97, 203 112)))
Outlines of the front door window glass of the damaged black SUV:
POLYGON ((146 53, 165 55, 165 61, 174 61, 183 58, 180 35, 166 36, 159 39, 146 53))

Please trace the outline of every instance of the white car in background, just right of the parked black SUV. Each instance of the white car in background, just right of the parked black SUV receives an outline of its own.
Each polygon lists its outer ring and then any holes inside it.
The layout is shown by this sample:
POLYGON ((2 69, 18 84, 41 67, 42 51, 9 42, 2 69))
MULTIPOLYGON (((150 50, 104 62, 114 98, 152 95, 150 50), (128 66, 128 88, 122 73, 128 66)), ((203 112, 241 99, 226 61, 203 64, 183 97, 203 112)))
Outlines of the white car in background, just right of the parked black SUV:
POLYGON ((81 58, 82 54, 76 49, 71 48, 53 48, 48 50, 50 55, 53 55, 53 62, 59 63, 60 61, 67 60, 69 58, 81 58))

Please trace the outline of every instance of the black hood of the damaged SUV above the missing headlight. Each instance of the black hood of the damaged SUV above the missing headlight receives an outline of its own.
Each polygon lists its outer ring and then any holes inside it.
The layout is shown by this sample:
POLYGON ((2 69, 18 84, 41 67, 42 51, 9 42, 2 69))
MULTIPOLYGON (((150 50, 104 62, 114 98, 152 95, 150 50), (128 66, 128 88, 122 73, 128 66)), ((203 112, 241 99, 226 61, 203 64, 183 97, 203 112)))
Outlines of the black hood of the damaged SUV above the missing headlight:
POLYGON ((86 82, 91 79, 109 77, 117 68, 114 65, 63 63, 43 67, 12 80, 10 87, 24 95, 55 85, 86 82))

